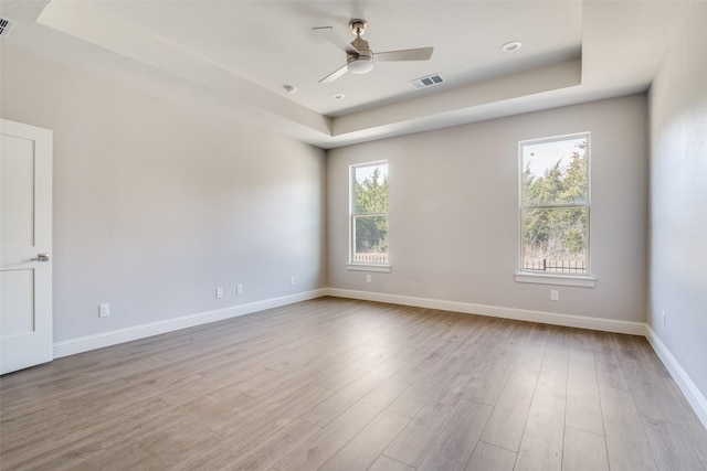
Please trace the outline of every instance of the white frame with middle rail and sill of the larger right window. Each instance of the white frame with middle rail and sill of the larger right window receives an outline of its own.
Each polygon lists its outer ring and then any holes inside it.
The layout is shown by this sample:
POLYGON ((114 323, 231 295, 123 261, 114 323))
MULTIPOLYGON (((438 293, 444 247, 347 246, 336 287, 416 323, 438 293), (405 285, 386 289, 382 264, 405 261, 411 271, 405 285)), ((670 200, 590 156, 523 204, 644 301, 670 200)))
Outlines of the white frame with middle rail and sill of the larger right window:
POLYGON ((526 139, 518 141, 518 270, 515 274, 515 279, 517 282, 530 282, 530 283, 541 283, 541 285, 564 285, 564 286, 577 286, 577 287, 587 287, 593 288, 595 286, 595 278, 592 274, 592 263, 591 263, 591 195, 592 195, 592 178, 591 178, 591 162, 592 162, 592 137, 590 131, 582 132, 572 132, 568 135, 560 136, 550 136, 538 139, 526 139), (585 139, 587 141, 587 197, 583 204, 577 203, 560 203, 560 204, 544 204, 537 206, 526 206, 524 204, 524 184, 523 184, 523 173, 524 173, 524 161, 523 161, 523 150, 525 146, 548 143, 548 142, 559 142, 571 139, 585 139), (584 274, 566 274, 566 272, 539 272, 526 270, 524 268, 524 211, 525 210, 551 210, 551 208, 585 208, 587 211, 587 251, 585 251, 585 260, 587 260, 587 270, 584 274))

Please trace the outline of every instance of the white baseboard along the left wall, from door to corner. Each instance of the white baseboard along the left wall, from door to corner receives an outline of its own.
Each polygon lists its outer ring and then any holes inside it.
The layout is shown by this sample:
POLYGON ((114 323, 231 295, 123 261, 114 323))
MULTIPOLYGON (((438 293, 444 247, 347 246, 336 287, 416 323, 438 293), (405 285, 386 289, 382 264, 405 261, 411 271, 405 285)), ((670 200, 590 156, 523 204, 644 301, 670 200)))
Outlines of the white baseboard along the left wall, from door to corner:
POLYGON ((197 314, 183 315, 176 319, 167 319, 159 322, 135 325, 127 329, 119 329, 110 332, 103 332, 95 335, 71 339, 54 343, 54 358, 88 352, 91 350, 103 349, 104 346, 116 345, 118 343, 130 342, 145 339, 161 333, 173 332, 209 322, 222 321, 236 318, 239 315, 251 314, 265 309, 279 308, 294 302, 307 301, 309 299, 326 296, 325 289, 299 292, 281 298, 266 299, 264 301, 251 302, 247 304, 233 306, 231 308, 218 309, 215 311, 200 312, 197 314))

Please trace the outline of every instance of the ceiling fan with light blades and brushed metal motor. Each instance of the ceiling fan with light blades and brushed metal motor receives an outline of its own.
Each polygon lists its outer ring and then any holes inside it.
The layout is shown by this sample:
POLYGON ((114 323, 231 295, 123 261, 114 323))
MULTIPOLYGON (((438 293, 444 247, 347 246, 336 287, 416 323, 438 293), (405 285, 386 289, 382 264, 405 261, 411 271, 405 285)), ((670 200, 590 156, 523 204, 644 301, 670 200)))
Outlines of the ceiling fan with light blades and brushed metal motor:
POLYGON ((326 77, 319 81, 320 84, 328 84, 336 81, 341 75, 350 72, 351 74, 366 74, 373 68, 373 57, 379 62, 392 61, 428 61, 432 56, 434 47, 405 49, 400 51, 377 52, 370 50, 368 41, 361 39, 366 33, 366 20, 354 19, 349 21, 349 29, 356 36, 351 43, 347 43, 331 26, 317 26, 312 30, 320 34, 325 40, 346 52, 346 64, 337 68, 326 77))

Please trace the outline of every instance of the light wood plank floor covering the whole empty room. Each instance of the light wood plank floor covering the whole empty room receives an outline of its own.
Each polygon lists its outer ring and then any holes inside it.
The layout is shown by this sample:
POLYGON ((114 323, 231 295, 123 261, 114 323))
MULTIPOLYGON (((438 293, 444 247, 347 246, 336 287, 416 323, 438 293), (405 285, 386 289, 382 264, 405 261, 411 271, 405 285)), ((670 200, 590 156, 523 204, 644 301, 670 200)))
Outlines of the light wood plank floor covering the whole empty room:
POLYGON ((643 338, 323 298, 0 378, 4 470, 707 470, 643 338))

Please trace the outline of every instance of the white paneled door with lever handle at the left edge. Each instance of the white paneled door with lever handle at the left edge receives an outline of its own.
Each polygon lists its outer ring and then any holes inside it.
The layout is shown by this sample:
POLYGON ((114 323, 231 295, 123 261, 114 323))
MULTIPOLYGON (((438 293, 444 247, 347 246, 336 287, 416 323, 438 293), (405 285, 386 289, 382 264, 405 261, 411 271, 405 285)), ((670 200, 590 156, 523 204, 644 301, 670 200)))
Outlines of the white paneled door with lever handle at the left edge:
POLYGON ((52 138, 0 120, 0 374, 53 356, 52 138))

